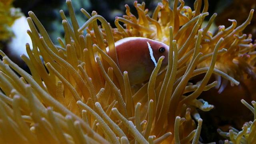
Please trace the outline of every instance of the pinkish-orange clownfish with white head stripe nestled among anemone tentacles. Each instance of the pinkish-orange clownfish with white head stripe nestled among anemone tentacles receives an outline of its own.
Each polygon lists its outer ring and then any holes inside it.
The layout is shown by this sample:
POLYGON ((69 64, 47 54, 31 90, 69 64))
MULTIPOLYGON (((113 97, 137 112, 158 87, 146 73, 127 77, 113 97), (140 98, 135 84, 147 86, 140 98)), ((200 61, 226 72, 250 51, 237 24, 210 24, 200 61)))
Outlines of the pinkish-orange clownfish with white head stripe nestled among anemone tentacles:
POLYGON ((115 43, 121 72, 128 72, 130 84, 142 83, 150 79, 158 59, 164 56, 160 71, 168 65, 169 46, 141 37, 128 37, 115 43))

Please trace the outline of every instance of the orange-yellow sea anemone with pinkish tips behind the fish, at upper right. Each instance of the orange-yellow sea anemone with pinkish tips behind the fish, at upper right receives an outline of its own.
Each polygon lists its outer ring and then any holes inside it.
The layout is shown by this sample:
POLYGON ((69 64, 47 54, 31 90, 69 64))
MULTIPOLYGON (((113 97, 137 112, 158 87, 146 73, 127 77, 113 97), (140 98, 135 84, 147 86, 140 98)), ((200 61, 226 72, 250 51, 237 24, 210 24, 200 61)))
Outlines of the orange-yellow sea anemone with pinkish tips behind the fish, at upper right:
MULTIPOLYGON (((145 4, 138 4, 134 2, 134 6, 138 11, 138 18, 136 18, 131 12, 128 5, 126 6, 126 14, 123 18, 116 17, 116 27, 112 31, 115 40, 120 40, 128 36, 139 36, 150 38, 153 40, 158 40, 164 42, 165 44, 170 44, 170 34, 168 28, 172 26, 174 40, 177 42, 178 58, 191 58, 189 56, 184 57, 188 52, 192 54, 191 50, 194 50, 196 44, 196 38, 198 36, 198 30, 202 27, 202 21, 205 16, 208 15, 208 1, 204 0, 204 9, 202 14, 200 14, 200 9, 202 6, 202 0, 196 0, 195 2, 195 11, 188 6, 184 6, 184 1, 180 1, 181 4, 178 6, 178 1, 174 1, 173 8, 170 9, 168 0, 163 0, 162 3, 159 3, 156 7, 152 18, 147 15, 148 10, 145 9, 145 4), (202 20, 200 20, 200 15, 202 20), (123 22, 126 28, 118 22, 123 22)), ((246 28, 250 21, 252 20, 254 10, 251 10, 247 20, 236 27, 236 20, 229 20, 232 22, 232 25, 228 28, 225 26, 219 26, 218 32, 213 35, 213 32, 208 31, 212 25, 217 14, 213 14, 204 28, 202 28, 202 38, 200 41, 200 52, 205 56, 212 53, 216 43, 220 38, 223 38, 223 43, 220 45, 219 50, 225 48, 226 53, 220 54, 216 60, 215 68, 228 74, 232 78, 241 81, 246 78, 256 78, 254 72, 254 59, 256 44, 252 44, 252 35, 242 34, 242 30, 246 28)), ((83 27, 82 27, 83 28, 83 27)), ((87 32, 93 34, 92 27, 88 27, 87 32)), ((102 33, 105 33, 104 30, 101 30, 102 33)), ((105 35, 105 34, 104 34, 105 35)), ((104 37, 105 38, 105 37, 104 37)), ((94 37, 95 39, 95 37, 94 37)), ((94 40, 96 42, 96 39, 94 40)), ((184 59, 179 66, 185 64, 184 59)), ((196 67, 204 68, 210 65, 210 59, 203 60, 196 67)), ((218 84, 216 88, 219 89, 221 93, 226 85, 228 84, 227 79, 221 78, 220 75, 215 75, 218 84)), ((231 82, 231 85, 234 84, 231 82)))

